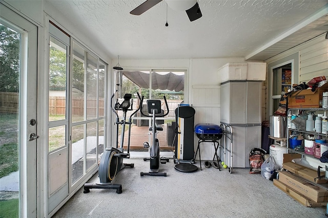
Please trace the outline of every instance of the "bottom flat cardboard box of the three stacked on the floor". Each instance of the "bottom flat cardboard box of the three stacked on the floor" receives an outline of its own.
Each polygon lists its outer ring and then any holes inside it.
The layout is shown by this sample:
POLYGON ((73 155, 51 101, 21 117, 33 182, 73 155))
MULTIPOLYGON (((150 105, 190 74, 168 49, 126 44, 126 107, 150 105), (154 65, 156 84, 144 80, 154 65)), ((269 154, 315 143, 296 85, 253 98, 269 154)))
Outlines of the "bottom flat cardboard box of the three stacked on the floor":
POLYGON ((273 184, 278 187, 280 190, 284 191, 286 194, 290 195, 295 201, 298 201, 302 205, 306 207, 325 207, 327 205, 327 202, 314 202, 309 198, 306 198, 301 193, 295 191, 294 189, 290 188, 289 186, 286 186, 282 182, 280 182, 277 179, 273 180, 273 184))

